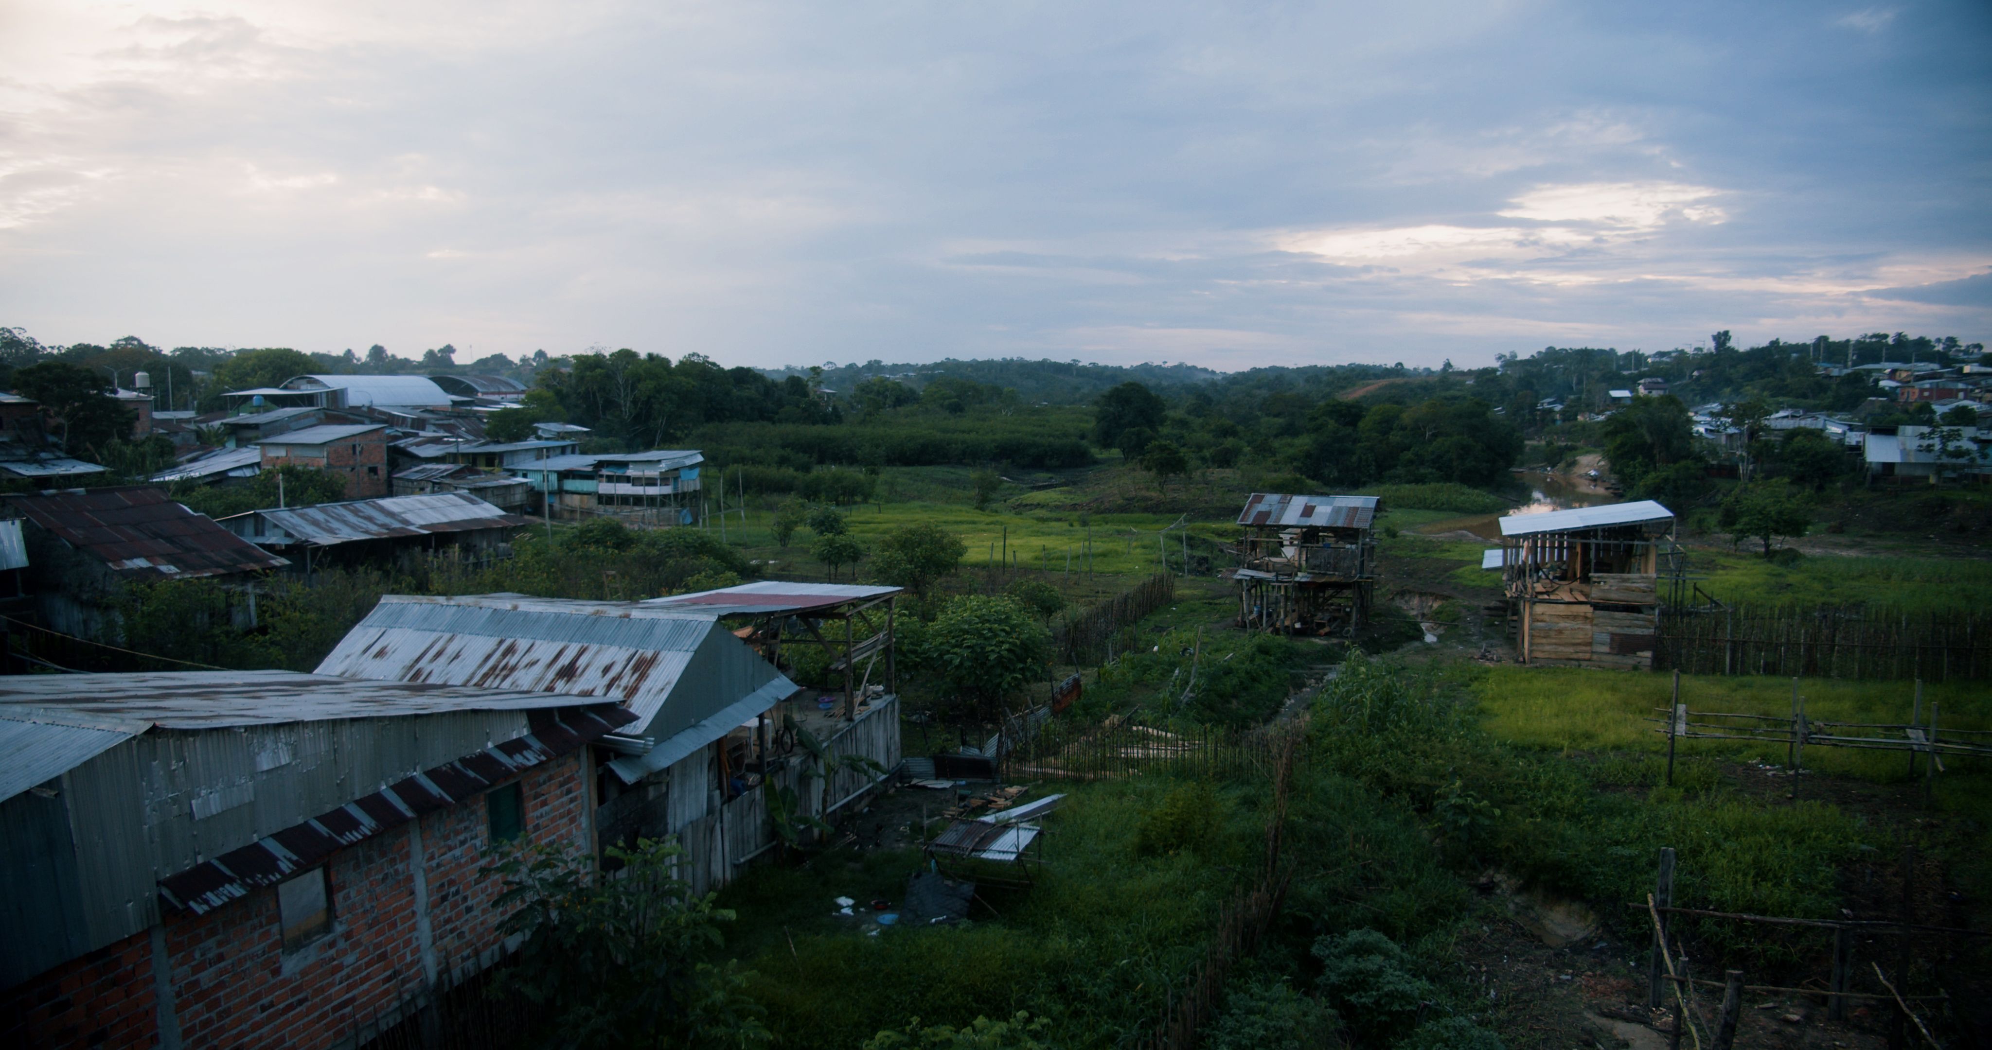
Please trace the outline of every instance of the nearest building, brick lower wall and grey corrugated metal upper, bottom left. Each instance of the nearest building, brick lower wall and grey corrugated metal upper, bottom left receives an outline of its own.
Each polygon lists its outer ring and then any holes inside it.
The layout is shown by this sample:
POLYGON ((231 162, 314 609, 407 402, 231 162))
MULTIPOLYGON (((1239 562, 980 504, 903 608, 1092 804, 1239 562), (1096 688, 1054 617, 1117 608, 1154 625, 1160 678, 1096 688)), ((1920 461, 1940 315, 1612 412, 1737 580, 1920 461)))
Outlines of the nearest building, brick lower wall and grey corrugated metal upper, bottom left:
POLYGON ((0 771, 0 1044, 373 1038, 506 950, 488 847, 594 849, 588 743, 633 715, 574 703, 291 671, 0 679, 0 739, 32 755, 0 771))

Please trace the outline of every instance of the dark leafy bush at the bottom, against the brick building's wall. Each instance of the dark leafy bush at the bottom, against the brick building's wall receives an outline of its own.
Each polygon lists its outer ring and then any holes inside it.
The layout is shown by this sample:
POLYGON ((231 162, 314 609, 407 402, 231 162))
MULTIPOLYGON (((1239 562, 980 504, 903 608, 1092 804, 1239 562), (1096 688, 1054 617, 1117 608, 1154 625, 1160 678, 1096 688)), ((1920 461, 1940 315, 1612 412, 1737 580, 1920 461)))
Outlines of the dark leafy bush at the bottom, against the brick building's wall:
POLYGON ((614 879, 592 859, 534 845, 500 853, 480 877, 498 879, 500 928, 524 936, 494 994, 552 1004, 538 1044, 562 1048, 719 1048, 769 1042, 765 1010, 745 992, 753 976, 703 958, 733 913, 675 877, 683 849, 643 839, 610 847, 614 879))

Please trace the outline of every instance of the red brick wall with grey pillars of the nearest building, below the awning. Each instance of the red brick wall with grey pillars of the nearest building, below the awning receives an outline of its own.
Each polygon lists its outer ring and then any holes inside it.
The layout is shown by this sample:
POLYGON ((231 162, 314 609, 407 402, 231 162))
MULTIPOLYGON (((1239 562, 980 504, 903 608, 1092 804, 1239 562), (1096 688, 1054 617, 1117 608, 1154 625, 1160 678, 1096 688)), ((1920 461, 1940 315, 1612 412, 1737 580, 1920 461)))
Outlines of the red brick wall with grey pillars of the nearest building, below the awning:
MULTIPOLYGON (((528 771, 522 789, 530 839, 590 847, 584 755, 528 771)), ((500 885, 476 875, 486 821, 482 797, 418 821, 438 968, 482 968, 502 950, 502 917, 490 907, 500 885)), ((207 915, 167 913, 181 1046, 317 1050, 392 1020, 424 988, 412 855, 406 825, 335 853, 333 932, 293 954, 283 950, 275 887, 207 915)), ((0 1046, 159 1046, 151 938, 129 936, 0 990, 0 1046)))

